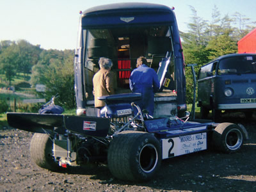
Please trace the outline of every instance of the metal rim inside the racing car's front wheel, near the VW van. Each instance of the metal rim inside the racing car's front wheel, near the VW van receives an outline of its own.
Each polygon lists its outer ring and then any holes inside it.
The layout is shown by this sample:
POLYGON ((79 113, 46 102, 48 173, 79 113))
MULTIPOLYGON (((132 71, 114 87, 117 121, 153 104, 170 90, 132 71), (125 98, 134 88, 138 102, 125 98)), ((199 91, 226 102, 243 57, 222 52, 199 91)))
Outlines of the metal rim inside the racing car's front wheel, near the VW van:
POLYGON ((230 150, 237 150, 243 143, 243 134, 239 129, 231 129, 227 132, 225 141, 230 150))

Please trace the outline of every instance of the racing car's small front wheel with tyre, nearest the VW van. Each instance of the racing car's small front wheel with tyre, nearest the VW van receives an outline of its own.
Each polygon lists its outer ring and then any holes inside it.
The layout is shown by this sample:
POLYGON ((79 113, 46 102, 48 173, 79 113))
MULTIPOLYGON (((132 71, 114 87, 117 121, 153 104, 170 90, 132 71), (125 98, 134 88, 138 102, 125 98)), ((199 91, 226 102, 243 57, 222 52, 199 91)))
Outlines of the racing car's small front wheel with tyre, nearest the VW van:
POLYGON ((212 141, 217 150, 228 154, 237 152, 243 145, 243 130, 239 125, 222 123, 214 129, 212 141))

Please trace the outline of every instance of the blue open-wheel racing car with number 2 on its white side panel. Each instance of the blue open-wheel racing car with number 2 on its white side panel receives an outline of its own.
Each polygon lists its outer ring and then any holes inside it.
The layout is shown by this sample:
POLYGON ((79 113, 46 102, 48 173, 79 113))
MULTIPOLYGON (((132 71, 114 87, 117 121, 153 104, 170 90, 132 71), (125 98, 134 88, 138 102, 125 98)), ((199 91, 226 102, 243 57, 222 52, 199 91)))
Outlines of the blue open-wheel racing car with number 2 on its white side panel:
POLYGON ((99 99, 106 102, 101 117, 51 111, 8 113, 8 124, 35 132, 31 158, 42 168, 56 171, 68 166, 108 164, 114 177, 131 181, 152 179, 163 159, 211 147, 234 153, 248 138, 240 124, 189 121, 189 114, 184 118, 152 118, 136 104, 140 93, 99 99))

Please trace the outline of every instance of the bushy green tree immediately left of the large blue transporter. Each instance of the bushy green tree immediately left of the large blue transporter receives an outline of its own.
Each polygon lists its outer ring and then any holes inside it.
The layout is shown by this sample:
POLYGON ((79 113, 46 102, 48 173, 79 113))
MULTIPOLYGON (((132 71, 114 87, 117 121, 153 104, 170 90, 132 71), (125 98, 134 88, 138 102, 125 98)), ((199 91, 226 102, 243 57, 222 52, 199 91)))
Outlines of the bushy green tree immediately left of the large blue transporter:
POLYGON ((74 51, 43 51, 40 57, 43 57, 44 61, 39 61, 32 68, 31 84, 33 86, 38 83, 44 84, 46 91, 39 94, 50 99, 52 95, 58 93, 60 95, 58 104, 64 108, 75 108, 74 51))

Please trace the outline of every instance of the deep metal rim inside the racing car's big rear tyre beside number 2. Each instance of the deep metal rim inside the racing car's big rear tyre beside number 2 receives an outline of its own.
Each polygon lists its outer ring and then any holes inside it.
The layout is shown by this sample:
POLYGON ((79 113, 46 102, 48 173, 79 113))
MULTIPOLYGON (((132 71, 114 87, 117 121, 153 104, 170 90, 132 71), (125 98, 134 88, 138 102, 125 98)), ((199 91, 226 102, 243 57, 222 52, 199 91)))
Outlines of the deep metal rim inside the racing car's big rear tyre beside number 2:
POLYGON ((144 145, 140 151, 140 168, 143 172, 149 173, 156 168, 158 161, 157 149, 152 144, 144 145))

